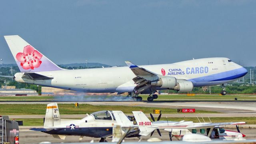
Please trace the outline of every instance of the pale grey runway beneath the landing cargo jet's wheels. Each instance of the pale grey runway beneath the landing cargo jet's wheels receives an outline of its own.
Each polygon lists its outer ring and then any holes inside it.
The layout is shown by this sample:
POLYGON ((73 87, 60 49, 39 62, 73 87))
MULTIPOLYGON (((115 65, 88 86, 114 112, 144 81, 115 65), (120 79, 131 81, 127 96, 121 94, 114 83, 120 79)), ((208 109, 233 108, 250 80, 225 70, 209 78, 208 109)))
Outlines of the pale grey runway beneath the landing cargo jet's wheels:
MULTIPOLYGON (((0 104, 74 104, 75 102, 63 101, 5 101, 0 104)), ((79 102, 79 101, 78 101, 79 102)), ((79 102, 79 104, 107 105, 107 106, 143 106, 154 108, 195 108, 229 114, 254 114, 256 113, 255 101, 155 101, 155 102, 79 102)))

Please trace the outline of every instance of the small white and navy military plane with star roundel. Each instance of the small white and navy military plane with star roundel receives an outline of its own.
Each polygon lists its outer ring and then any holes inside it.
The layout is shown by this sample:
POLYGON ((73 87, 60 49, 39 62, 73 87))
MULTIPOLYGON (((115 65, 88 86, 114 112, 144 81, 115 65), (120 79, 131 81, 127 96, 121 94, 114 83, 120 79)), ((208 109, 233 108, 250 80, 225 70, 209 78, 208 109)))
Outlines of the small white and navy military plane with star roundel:
MULTIPOLYGON (((119 111, 113 111, 119 112, 119 111)), ((41 131, 51 134, 54 138, 64 140, 67 135, 80 136, 82 140, 84 136, 101 138, 100 142, 106 142, 106 138, 112 136, 113 126, 116 125, 116 119, 112 111, 100 111, 87 114, 81 120, 61 119, 58 104, 56 102, 48 104, 44 121, 44 128, 31 128, 30 130, 41 131)), ((127 117, 126 117, 127 118, 127 117)), ((132 130, 126 127, 133 126, 133 123, 127 118, 125 124, 119 124, 127 138, 138 137, 138 128, 132 130), (128 132, 127 132, 128 131, 128 132)))

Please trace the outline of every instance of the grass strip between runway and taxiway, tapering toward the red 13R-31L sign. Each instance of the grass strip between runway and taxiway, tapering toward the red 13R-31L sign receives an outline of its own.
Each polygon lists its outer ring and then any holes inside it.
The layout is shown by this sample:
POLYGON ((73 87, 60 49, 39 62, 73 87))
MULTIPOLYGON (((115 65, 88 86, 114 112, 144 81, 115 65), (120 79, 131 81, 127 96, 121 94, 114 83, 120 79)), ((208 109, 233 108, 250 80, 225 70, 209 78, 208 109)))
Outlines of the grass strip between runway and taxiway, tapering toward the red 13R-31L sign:
MULTIPOLYGON (((0 104, 1 115, 44 115, 46 112, 46 104, 0 104)), ((74 104, 58 104, 60 114, 90 114, 101 110, 122 110, 126 114, 132 111, 143 111, 144 113, 153 113, 152 107, 141 106, 94 106, 90 104, 79 104, 79 108, 75 108, 74 104)), ((177 109, 160 108, 162 114, 175 114, 177 109)), ((219 113, 212 111, 196 110, 196 113, 219 113)))

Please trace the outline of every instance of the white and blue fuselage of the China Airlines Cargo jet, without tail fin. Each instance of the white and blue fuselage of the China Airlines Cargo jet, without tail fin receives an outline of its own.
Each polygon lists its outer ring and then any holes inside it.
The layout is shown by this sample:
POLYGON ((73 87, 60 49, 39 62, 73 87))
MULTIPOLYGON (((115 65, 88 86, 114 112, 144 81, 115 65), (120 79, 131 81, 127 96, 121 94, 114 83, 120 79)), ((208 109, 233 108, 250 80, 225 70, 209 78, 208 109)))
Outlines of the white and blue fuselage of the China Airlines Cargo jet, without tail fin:
MULTIPOLYGON (((196 86, 211 86, 231 82, 244 76, 247 70, 229 62, 228 58, 202 58, 176 62, 139 66, 156 74, 189 80, 196 86), (164 71, 164 72, 163 72, 164 71)), ((136 75, 127 66, 111 68, 92 68, 79 70, 55 70, 36 72, 53 77, 51 80, 29 80, 22 78, 24 73, 16 73, 17 82, 50 86, 82 92, 132 92, 136 75)), ((166 89, 158 87, 158 90, 166 89)))

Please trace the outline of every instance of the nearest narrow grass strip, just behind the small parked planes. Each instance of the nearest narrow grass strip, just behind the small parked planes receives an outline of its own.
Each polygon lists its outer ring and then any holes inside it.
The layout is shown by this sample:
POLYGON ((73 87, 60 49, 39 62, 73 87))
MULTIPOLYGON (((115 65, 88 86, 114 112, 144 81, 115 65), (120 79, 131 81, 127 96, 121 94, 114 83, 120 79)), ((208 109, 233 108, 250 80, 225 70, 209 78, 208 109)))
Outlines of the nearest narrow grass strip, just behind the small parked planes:
MULTIPOLYGON (((149 118, 151 120, 151 118, 149 118)), ((156 120, 157 118, 155 118, 156 120)), ((204 122, 202 118, 199 118, 201 122, 204 122)), ((246 122, 246 124, 256 124, 256 118, 253 117, 216 117, 216 118, 210 118, 212 122, 246 122)), ((44 122, 42 118, 31 118, 31 119, 15 119, 15 120, 23 120, 23 126, 43 126, 44 122)), ((161 118, 160 120, 166 120, 166 118, 161 118)), ((197 118, 168 118, 169 121, 193 121, 193 122, 199 122, 197 118)), ((204 118, 205 122, 210 122, 208 118, 204 118)))

